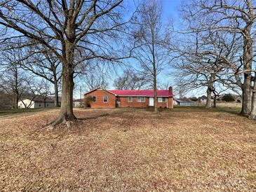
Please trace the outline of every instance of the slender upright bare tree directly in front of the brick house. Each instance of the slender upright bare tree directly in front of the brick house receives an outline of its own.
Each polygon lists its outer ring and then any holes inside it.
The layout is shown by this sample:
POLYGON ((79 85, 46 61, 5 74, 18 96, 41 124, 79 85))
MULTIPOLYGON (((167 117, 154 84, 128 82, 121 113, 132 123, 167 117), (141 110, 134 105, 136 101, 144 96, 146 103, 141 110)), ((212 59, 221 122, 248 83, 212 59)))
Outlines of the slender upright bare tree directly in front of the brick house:
POLYGON ((168 42, 166 29, 161 21, 161 3, 159 1, 143 1, 137 16, 138 27, 133 32, 135 41, 134 57, 143 69, 144 76, 151 80, 154 89, 154 111, 157 113, 157 76, 163 70, 168 58, 168 42))

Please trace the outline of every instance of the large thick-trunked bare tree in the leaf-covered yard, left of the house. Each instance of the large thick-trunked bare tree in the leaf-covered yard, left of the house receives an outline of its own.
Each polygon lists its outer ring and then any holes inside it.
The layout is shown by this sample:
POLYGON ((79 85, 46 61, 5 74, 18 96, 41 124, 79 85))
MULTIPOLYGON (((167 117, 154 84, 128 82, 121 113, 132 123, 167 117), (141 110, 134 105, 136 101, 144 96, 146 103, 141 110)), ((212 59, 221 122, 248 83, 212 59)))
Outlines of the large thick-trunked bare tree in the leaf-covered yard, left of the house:
MULTIPOLYGON (((70 126, 73 113, 74 69, 85 60, 120 58, 118 33, 121 32, 119 6, 123 0, 29 1, 4 0, 0 4, 1 43, 17 48, 39 44, 48 48, 62 64, 62 104, 58 118, 51 123, 70 126), (19 10, 19 11, 16 11, 19 10), (15 34, 11 32, 15 30, 15 34), (6 33, 6 34, 4 34, 6 33)), ((120 38, 121 39, 121 38, 120 38)))

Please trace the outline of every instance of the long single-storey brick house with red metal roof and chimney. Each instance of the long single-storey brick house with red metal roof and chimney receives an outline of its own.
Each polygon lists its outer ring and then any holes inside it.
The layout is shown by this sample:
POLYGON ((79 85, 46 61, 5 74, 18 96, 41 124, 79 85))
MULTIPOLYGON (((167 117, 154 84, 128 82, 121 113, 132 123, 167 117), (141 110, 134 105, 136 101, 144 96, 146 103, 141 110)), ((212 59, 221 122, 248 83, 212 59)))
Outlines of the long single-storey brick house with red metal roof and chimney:
MULTIPOLYGON (((173 88, 157 90, 157 107, 173 108, 173 88)), ((84 94, 91 97, 91 108, 153 107, 154 90, 105 90, 96 88, 84 94)))

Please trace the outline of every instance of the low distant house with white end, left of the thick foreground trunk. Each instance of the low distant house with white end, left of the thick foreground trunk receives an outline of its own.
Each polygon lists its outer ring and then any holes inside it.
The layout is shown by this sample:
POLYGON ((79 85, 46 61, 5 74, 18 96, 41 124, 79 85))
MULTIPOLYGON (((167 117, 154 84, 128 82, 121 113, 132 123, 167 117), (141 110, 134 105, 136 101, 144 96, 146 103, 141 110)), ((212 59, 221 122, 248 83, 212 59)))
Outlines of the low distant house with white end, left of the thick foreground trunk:
POLYGON ((24 98, 18 102, 18 108, 30 108, 30 109, 40 109, 54 107, 54 100, 48 98, 43 100, 42 97, 34 98, 24 98))

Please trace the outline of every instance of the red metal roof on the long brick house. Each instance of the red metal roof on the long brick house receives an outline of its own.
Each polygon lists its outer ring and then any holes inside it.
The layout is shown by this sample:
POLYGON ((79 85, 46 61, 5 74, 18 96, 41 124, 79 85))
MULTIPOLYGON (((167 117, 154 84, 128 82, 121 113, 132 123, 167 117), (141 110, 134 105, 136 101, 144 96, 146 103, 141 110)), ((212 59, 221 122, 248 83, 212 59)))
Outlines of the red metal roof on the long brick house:
MULTIPOLYGON (((154 90, 108 90, 119 96, 145 96, 154 97, 154 90)), ((169 90, 157 90, 158 97, 170 97, 173 96, 173 92, 169 90)))

